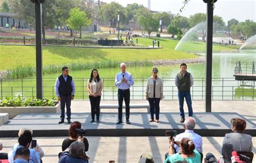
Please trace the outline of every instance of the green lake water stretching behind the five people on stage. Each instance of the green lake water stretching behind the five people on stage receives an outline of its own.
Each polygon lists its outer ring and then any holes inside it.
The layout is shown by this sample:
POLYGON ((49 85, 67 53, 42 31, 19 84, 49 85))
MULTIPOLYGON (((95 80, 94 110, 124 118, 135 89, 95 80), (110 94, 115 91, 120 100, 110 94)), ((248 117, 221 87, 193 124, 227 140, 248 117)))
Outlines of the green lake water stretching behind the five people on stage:
MULTIPOLYGON (((205 54, 201 54, 205 56, 205 54)), ((156 58, 157 59, 157 58, 156 58)), ((213 100, 254 100, 256 97, 255 82, 241 83, 235 81, 235 64, 252 64, 256 61, 256 51, 239 51, 237 53, 214 53, 212 64, 212 86, 213 100), (242 90, 241 90, 242 89, 242 90)), ((145 67, 127 67, 134 78, 134 86, 131 88, 131 99, 143 99, 146 80, 151 76, 152 67, 158 68, 158 75, 164 80, 164 95, 166 99, 177 99, 177 88, 174 84, 174 77, 179 72, 179 65, 156 65, 145 67)), ((249 67, 249 66, 248 66, 249 67)), ((93 68, 93 67, 92 67, 93 68)), ((248 69, 248 68, 247 68, 248 69)), ((249 68, 250 69, 250 68, 249 68)), ((116 87, 114 87, 114 77, 120 71, 117 68, 98 69, 100 77, 104 80, 103 99, 117 99, 116 87)), ((205 86, 205 63, 187 63, 187 71, 194 77, 194 87, 192 97, 194 100, 204 99, 205 86)), ((70 75, 76 84, 76 98, 87 99, 86 83, 90 77, 91 70, 72 71, 70 75)), ((44 75, 44 97, 55 97, 54 84, 58 74, 44 75)), ((5 96, 36 96, 36 82, 33 79, 3 80, 0 97, 5 96), (23 88, 22 88, 23 86, 23 88)))

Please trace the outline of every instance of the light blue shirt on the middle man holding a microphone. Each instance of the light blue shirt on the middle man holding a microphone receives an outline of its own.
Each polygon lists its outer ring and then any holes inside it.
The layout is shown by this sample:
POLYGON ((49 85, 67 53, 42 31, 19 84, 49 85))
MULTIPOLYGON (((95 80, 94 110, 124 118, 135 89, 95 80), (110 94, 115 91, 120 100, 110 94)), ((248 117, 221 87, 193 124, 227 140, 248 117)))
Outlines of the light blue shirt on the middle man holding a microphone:
POLYGON ((114 80, 114 85, 117 86, 118 89, 129 89, 131 86, 133 86, 134 81, 132 79, 132 74, 129 72, 125 72, 125 73, 117 73, 116 75, 116 79, 114 80), (123 78, 123 74, 124 74, 124 78, 127 80, 127 82, 122 82, 122 78, 123 78))

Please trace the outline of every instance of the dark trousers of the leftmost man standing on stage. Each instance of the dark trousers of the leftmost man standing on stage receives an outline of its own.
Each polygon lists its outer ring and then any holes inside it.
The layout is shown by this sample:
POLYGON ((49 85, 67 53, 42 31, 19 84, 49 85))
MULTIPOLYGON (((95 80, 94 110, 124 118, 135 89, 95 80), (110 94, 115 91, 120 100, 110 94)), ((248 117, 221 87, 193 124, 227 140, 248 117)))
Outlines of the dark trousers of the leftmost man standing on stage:
POLYGON ((71 118, 71 95, 68 95, 68 96, 63 96, 63 95, 60 95, 60 110, 62 112, 62 114, 60 115, 60 118, 64 120, 65 118, 65 105, 66 105, 66 116, 68 118, 68 120, 70 120, 71 118))

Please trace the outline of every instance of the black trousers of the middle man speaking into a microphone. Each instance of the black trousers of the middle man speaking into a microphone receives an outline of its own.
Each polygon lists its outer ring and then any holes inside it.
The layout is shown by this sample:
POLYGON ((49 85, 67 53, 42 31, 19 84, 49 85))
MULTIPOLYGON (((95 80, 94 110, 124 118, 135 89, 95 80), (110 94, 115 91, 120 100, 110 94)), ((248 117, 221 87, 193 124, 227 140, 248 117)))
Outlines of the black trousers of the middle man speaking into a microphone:
POLYGON ((122 121, 123 100, 125 102, 126 121, 130 118, 130 89, 118 89, 118 119, 122 121))

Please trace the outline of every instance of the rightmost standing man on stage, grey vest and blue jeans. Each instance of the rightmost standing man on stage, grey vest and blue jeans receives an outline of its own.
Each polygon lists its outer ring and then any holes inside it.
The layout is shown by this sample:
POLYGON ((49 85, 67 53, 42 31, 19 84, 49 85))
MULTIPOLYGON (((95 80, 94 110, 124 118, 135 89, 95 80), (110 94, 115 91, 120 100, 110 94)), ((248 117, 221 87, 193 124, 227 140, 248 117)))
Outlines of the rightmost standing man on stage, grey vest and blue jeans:
POLYGON ((175 78, 175 84, 178 87, 179 110, 180 110, 180 116, 181 116, 180 123, 184 123, 185 121, 185 114, 183 109, 184 97, 187 102, 188 116, 190 117, 193 116, 190 87, 193 86, 194 80, 193 80, 193 76, 187 72, 186 63, 181 63, 180 72, 176 75, 176 78, 175 78))

